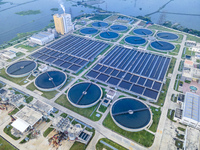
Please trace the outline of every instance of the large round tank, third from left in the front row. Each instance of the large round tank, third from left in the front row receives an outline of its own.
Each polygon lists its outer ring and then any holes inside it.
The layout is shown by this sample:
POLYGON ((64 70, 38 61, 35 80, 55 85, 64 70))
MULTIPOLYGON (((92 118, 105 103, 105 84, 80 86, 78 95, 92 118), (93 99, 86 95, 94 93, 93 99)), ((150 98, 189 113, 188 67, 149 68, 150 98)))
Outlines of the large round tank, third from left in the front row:
POLYGON ((69 102, 75 107, 88 108, 97 104, 102 96, 101 88, 90 82, 73 85, 67 92, 69 102))

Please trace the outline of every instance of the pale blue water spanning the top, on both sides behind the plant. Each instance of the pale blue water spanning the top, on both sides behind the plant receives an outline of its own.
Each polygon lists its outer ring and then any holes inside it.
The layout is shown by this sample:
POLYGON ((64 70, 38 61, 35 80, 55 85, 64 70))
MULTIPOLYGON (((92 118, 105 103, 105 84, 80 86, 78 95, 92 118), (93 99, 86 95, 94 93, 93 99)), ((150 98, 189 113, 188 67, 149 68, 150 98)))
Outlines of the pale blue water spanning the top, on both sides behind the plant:
MULTIPOLYGON (((6 2, 7 0, 3 0, 6 2)), ((98 6, 102 9, 115 11, 126 15, 138 16, 146 15, 159 10, 169 0, 104 0, 98 6)), ((72 6, 72 1, 63 0, 67 13, 72 13, 72 17, 83 13, 92 13, 94 9, 84 6, 72 6)), ((200 15, 199 0, 174 0, 168 3, 160 12, 150 15, 153 22, 158 23, 160 18, 163 21, 169 20, 180 23, 184 27, 200 30, 200 16, 176 15, 169 13, 186 13, 200 15)), ((9 0, 9 3, 0 5, 0 44, 16 37, 17 33, 40 30, 50 23, 53 13, 62 13, 57 0, 9 0), (51 8, 59 8, 58 12, 52 12, 51 8), (15 14, 19 11, 40 10, 37 15, 20 16, 15 14)))

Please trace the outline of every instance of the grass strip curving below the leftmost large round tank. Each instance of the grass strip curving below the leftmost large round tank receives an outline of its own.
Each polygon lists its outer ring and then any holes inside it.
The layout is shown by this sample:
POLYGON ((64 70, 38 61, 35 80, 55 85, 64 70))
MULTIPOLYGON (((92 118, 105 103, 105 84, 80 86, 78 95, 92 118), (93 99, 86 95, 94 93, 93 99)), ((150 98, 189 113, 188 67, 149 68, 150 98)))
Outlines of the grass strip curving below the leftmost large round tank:
POLYGON ((26 84, 26 83, 24 83, 24 81, 25 81, 25 79, 26 79, 27 77, 12 78, 12 77, 10 77, 10 76, 8 76, 8 75, 6 74, 4 68, 0 70, 0 76, 3 77, 3 78, 5 78, 5 79, 7 79, 7 80, 9 80, 9 81, 12 81, 12 82, 14 82, 14 83, 16 83, 16 84, 19 84, 19 85, 24 85, 24 84, 26 84))

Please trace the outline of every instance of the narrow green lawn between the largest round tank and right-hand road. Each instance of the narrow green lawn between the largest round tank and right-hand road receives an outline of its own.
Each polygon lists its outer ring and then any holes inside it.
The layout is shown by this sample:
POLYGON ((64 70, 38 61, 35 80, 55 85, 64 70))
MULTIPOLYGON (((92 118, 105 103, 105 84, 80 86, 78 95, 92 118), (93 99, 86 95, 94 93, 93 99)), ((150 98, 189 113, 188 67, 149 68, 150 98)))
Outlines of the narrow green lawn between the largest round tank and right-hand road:
POLYGON ((156 132, 160 120, 161 110, 160 108, 151 107, 151 111, 153 113, 153 123, 149 130, 156 132))

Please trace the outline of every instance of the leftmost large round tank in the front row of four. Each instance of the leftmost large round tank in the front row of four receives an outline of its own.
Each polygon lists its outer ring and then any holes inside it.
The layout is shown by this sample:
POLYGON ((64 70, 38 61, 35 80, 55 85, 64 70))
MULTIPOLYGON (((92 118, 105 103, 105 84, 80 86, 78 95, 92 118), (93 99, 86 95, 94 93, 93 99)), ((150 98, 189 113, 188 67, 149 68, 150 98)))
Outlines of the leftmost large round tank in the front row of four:
POLYGON ((23 60, 13 63, 6 69, 6 73, 14 78, 28 76, 37 68, 37 63, 32 60, 23 60))

